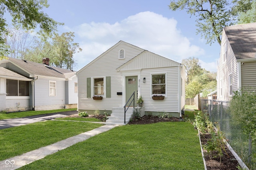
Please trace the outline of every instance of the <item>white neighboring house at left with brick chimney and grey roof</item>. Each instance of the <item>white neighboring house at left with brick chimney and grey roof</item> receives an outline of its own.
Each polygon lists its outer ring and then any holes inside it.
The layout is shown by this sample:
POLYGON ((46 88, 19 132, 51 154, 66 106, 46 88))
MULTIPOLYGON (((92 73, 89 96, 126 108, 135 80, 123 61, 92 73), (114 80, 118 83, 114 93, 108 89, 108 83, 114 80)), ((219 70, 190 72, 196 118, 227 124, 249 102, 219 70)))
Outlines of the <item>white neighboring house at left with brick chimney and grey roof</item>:
POLYGON ((77 107, 75 72, 8 58, 0 61, 0 111, 51 110, 77 107))

